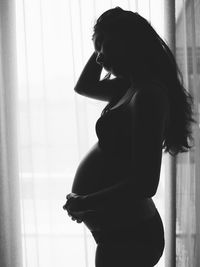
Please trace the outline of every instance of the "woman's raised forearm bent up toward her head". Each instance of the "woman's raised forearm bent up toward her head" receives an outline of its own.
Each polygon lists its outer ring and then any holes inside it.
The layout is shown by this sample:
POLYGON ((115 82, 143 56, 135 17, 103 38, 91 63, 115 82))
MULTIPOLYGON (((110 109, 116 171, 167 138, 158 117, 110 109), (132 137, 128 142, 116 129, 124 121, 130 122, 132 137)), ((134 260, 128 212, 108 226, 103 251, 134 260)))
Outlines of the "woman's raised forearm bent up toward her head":
POLYGON ((94 86, 101 76, 102 66, 96 62, 96 53, 94 52, 86 63, 75 87, 76 92, 83 92, 94 86))

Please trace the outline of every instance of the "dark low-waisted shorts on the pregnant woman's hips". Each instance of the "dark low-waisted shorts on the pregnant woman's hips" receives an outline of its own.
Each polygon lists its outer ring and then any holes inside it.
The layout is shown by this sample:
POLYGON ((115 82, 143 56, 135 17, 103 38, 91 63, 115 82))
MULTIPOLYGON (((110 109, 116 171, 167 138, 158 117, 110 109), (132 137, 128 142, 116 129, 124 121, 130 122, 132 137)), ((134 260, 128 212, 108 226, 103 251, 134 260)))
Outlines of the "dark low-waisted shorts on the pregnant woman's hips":
POLYGON ((160 253, 164 250, 164 228, 161 217, 156 214, 131 228, 115 230, 91 231, 97 244, 105 243, 130 243, 130 245, 145 245, 158 249, 160 253))

